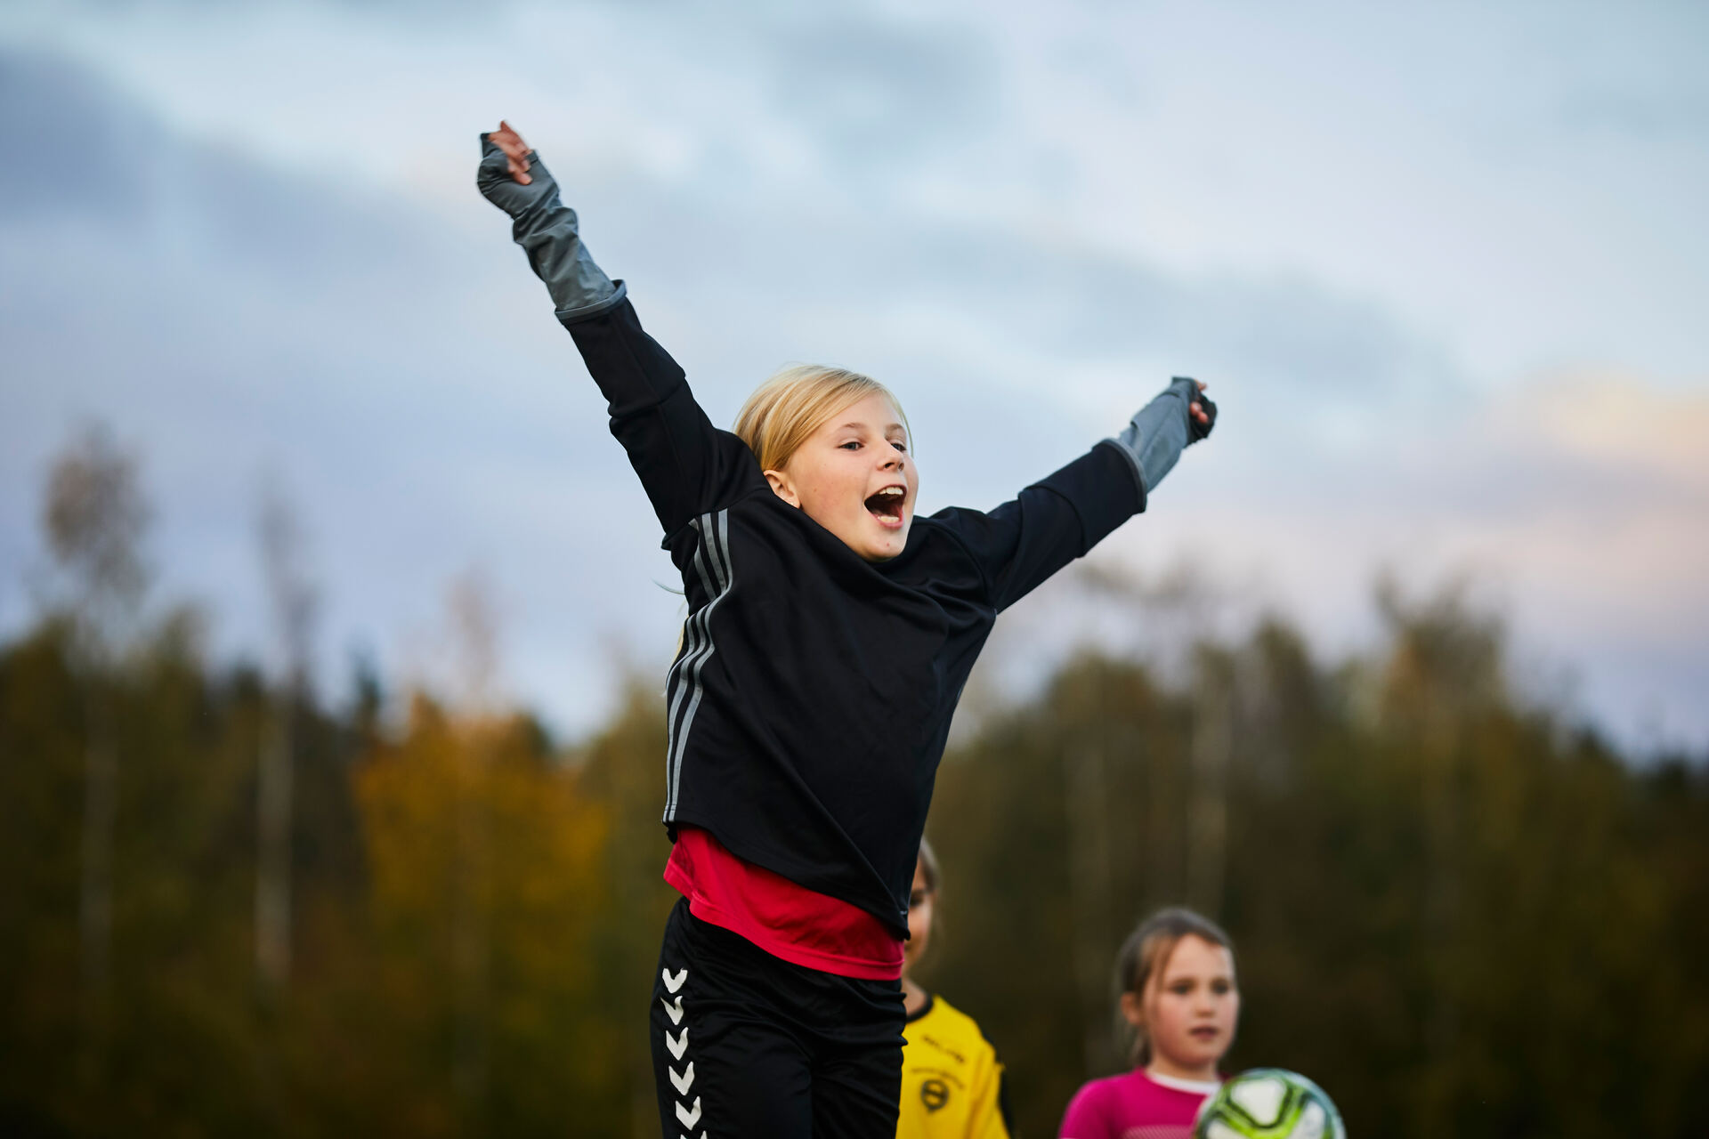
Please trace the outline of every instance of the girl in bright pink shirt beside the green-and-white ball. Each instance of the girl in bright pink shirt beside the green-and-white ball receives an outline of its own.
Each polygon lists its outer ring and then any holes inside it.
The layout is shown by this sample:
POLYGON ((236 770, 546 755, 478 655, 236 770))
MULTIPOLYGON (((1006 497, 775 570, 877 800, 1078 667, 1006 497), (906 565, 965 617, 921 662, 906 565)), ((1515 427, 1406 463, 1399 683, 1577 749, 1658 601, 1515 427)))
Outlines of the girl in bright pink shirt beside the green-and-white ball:
POLYGON ((1193 910, 1159 910, 1121 946, 1116 985, 1133 1071, 1082 1086, 1060 1139, 1189 1139, 1241 1016, 1229 934, 1193 910))

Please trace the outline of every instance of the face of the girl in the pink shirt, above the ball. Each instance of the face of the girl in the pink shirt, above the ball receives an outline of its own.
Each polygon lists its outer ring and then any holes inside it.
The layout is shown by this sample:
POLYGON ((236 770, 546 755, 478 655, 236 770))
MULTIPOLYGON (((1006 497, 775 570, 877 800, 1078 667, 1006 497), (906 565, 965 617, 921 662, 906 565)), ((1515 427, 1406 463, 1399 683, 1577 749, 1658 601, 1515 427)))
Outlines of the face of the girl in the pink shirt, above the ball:
POLYGON ((1181 937, 1143 996, 1121 994, 1121 1013, 1150 1033, 1150 1071, 1178 1079, 1215 1079, 1217 1062, 1234 1043, 1241 1016, 1234 955, 1196 934, 1181 937))

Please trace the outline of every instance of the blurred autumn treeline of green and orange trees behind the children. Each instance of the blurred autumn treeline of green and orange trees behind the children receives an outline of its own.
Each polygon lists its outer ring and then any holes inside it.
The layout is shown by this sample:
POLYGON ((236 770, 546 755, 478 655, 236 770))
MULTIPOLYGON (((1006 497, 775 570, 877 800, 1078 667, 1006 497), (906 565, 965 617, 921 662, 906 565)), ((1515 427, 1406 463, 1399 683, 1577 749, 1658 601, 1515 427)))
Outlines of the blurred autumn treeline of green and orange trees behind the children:
MULTIPOLYGON (((0 1132, 656 1134, 658 685, 576 746, 480 668, 316 697, 289 511, 267 671, 145 616, 145 521, 111 442, 68 449, 58 587, 0 645, 0 1132)), ((945 758, 923 980, 1024 1134, 1121 1067, 1114 949, 1167 902, 1236 937, 1227 1067, 1311 1074, 1355 1136, 1702 1134, 1704 763, 1636 768, 1516 697, 1451 596, 1381 605, 1386 644, 1333 666, 1282 622, 1080 657, 945 758)))

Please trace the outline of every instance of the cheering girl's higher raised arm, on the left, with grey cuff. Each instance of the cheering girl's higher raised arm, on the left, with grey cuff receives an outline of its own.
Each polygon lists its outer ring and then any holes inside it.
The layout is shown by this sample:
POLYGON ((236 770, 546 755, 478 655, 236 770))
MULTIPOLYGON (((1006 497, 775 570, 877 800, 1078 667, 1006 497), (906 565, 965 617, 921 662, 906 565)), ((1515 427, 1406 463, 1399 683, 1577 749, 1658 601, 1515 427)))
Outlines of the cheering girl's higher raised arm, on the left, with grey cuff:
POLYGON ((511 217, 511 237, 552 294, 557 319, 605 394, 612 434, 646 488, 667 538, 701 514, 766 485, 752 453, 718 430, 694 401, 682 367, 641 328, 627 289, 610 280, 581 241, 576 212, 514 131, 482 135, 480 193, 511 217), (508 157, 526 154, 518 164, 508 157), (523 181, 526 178, 526 181, 523 181))

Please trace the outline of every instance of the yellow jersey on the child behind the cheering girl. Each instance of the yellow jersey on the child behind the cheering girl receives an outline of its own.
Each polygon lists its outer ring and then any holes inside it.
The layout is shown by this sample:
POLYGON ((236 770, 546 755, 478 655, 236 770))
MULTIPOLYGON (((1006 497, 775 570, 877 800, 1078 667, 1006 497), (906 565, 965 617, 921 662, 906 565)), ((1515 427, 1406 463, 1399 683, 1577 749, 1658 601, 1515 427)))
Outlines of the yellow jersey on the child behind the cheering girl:
POLYGON ((902 1110, 897 1139, 1008 1139, 1013 1134, 1003 1066, 971 1016, 943 997, 902 1028, 902 1110))

